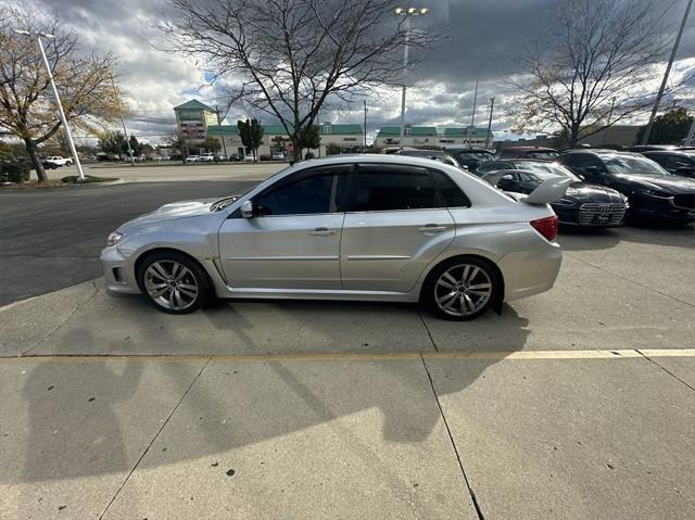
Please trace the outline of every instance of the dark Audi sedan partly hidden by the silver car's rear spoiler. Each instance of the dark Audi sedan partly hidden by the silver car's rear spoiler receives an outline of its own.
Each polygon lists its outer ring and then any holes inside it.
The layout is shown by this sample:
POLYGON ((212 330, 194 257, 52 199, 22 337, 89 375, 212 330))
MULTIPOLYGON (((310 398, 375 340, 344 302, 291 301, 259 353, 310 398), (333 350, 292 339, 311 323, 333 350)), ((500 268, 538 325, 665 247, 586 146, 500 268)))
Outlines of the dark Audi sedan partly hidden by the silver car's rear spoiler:
POLYGON ((560 224, 571 226, 620 226, 628 211, 628 198, 604 186, 589 185, 557 163, 529 158, 508 158, 478 168, 484 180, 503 191, 531 193, 551 177, 570 177, 573 182, 565 196, 551 204, 560 224))

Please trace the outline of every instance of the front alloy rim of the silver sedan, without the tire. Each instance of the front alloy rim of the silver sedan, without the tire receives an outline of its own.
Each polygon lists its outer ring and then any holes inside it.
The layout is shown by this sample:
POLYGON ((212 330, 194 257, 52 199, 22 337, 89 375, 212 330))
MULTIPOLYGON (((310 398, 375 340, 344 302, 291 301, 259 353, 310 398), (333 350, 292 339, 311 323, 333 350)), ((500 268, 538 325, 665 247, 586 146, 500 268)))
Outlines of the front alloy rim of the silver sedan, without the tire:
POLYGON ((184 310, 195 302, 199 284, 195 276, 176 261, 156 261, 144 271, 144 289, 161 307, 184 310))

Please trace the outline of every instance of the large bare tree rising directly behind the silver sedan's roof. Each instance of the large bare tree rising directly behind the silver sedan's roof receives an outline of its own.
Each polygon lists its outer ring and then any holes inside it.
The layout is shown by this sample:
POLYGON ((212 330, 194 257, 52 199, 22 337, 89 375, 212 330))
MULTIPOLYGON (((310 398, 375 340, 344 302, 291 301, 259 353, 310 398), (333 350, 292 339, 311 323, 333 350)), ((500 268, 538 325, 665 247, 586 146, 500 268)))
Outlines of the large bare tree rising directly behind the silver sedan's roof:
MULTIPOLYGON (((160 26, 168 50, 206 63, 231 85, 226 101, 280 121, 301 158, 327 103, 396 85, 403 73, 403 17, 393 0, 169 0, 160 26)), ((438 35, 410 30, 427 49, 438 35)))

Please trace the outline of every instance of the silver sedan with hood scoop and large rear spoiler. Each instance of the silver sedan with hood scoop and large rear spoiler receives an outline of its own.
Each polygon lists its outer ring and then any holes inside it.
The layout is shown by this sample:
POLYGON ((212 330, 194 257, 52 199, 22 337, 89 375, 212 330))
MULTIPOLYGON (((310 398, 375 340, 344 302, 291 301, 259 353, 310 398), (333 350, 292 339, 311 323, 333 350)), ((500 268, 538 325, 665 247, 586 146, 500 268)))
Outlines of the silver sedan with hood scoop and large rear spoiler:
POLYGON ((124 224, 101 258, 110 293, 161 310, 212 296, 420 301, 470 319, 547 291, 561 253, 546 204, 429 158, 336 155, 282 169, 242 195, 166 204, 124 224))

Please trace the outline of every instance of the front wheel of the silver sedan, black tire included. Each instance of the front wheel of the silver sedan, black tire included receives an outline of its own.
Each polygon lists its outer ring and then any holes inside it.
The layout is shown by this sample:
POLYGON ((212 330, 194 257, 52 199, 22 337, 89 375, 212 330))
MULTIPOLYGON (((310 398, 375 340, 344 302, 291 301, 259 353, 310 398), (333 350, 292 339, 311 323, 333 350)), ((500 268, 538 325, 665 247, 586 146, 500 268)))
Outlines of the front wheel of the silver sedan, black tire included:
POLYGON ((205 305, 212 293, 201 265, 176 251, 149 254, 138 265, 137 277, 142 294, 163 313, 193 313, 205 305))

